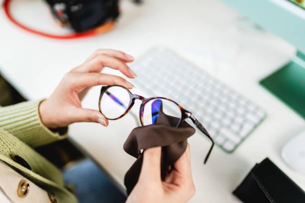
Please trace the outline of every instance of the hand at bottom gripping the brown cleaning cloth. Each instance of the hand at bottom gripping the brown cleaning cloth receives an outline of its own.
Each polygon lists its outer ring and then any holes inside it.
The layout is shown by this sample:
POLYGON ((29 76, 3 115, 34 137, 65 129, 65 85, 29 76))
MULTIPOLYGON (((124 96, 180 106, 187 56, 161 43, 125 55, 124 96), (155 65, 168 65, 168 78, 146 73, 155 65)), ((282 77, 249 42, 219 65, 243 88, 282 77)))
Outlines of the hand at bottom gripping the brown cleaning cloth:
POLYGON ((186 203, 195 194, 189 144, 165 182, 161 181, 160 160, 161 147, 144 151, 139 181, 126 203, 186 203))

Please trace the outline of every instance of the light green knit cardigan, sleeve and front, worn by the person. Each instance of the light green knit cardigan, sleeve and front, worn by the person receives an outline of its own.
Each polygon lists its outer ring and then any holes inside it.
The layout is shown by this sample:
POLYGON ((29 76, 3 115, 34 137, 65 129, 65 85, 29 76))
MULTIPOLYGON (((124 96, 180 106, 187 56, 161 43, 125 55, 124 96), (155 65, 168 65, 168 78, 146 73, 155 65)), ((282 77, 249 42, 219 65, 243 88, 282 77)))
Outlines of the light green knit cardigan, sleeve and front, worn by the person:
POLYGON ((58 203, 75 203, 75 196, 64 187, 61 171, 31 148, 66 137, 66 132, 61 135, 41 123, 40 102, 0 107, 0 160, 43 190, 53 193, 58 203), (13 161, 14 155, 23 158, 31 170, 13 161))

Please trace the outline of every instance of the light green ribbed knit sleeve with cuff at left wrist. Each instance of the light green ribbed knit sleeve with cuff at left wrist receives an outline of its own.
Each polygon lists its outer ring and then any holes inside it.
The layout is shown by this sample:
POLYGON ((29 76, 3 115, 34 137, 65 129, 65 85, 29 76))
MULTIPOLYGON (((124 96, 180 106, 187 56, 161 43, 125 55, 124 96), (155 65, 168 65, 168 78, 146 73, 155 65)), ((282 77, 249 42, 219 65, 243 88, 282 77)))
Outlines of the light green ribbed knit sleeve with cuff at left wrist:
POLYGON ((67 127, 50 130, 41 123, 38 108, 40 102, 21 102, 0 107, 0 128, 31 147, 64 139, 67 127))

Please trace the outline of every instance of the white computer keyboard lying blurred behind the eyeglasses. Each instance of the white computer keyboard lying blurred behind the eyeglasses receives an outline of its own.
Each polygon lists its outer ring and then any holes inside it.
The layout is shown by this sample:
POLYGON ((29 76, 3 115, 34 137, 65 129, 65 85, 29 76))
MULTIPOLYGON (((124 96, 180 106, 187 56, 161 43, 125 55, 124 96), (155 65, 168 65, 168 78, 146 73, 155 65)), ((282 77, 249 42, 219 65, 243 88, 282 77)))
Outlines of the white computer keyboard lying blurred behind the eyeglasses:
POLYGON ((131 68, 138 75, 136 84, 192 112, 226 152, 233 152, 266 117, 256 104, 170 49, 154 47, 131 68))

